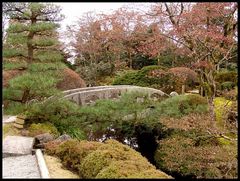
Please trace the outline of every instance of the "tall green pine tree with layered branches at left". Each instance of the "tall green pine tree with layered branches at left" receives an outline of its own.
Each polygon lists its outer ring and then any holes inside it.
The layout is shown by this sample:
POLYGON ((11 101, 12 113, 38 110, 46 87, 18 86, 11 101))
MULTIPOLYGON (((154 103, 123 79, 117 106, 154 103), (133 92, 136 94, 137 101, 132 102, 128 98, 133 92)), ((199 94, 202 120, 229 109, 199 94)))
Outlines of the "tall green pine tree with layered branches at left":
MULTIPOLYGON (((9 92, 21 92, 20 102, 43 100, 57 92, 65 67, 59 50, 56 23, 63 19, 61 9, 50 3, 6 3, 3 12, 10 18, 4 63, 25 63, 24 74, 10 80, 5 91, 7 99, 14 100, 9 92)), ((6 98, 6 97, 5 97, 6 98)))

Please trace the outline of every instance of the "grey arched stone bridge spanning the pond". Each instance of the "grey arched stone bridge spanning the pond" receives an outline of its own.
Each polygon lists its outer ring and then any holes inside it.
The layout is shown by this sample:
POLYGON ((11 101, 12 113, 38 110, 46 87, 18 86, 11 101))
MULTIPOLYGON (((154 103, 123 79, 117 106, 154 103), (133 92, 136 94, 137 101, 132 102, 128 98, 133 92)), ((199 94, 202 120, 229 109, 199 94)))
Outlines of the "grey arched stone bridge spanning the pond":
POLYGON ((64 98, 72 100, 78 105, 89 105, 98 99, 117 99, 125 92, 142 92, 147 93, 150 98, 159 99, 160 97, 169 97, 168 94, 153 88, 131 86, 131 85, 114 85, 114 86, 97 86, 71 89, 63 91, 64 98))

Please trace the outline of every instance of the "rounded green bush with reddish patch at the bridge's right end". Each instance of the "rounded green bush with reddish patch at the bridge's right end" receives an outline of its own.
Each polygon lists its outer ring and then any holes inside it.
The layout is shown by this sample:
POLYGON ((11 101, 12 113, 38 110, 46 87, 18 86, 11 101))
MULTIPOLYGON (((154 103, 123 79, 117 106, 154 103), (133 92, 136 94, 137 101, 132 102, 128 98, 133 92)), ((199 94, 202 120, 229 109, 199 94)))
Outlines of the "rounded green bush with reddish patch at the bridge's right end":
POLYGON ((157 105, 160 116, 182 117, 189 113, 205 113, 208 104, 200 95, 179 95, 163 100, 157 105))

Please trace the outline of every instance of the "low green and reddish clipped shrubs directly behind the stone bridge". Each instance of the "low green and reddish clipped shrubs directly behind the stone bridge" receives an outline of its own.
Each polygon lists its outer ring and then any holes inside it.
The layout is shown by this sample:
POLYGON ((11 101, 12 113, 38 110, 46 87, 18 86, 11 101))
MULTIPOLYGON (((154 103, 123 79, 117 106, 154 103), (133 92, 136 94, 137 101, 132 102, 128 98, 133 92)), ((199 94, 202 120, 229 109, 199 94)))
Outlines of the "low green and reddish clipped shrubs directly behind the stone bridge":
POLYGON ((179 72, 177 68, 167 69, 162 66, 146 66, 141 70, 129 71, 124 75, 116 77, 113 85, 152 87, 168 94, 172 91, 181 93, 183 85, 186 85, 186 90, 196 87, 197 78, 192 70, 185 68, 184 71, 179 72), (182 76, 185 75, 184 73, 188 74, 188 76, 182 76))

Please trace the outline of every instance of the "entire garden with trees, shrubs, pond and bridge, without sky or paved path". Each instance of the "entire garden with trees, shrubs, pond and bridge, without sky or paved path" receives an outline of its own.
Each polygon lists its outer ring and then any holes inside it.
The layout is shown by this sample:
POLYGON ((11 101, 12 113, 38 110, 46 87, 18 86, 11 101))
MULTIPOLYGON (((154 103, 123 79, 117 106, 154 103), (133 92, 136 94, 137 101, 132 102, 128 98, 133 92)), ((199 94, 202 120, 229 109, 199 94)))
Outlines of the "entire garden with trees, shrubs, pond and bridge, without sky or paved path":
POLYGON ((238 4, 132 4, 64 34, 55 3, 2 4, 2 140, 51 178, 237 178, 238 4))

